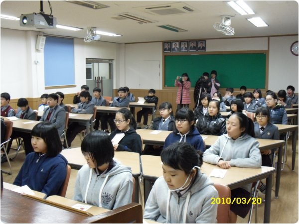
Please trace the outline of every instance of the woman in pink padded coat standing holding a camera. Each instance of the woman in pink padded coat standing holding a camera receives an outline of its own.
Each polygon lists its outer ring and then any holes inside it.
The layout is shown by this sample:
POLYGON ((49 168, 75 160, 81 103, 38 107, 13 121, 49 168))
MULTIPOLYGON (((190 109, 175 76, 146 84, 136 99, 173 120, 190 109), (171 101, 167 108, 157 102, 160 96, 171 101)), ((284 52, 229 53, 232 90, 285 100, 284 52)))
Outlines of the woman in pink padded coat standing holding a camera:
POLYGON ((178 87, 176 101, 178 111, 181 108, 189 108, 191 104, 190 87, 191 82, 187 73, 183 73, 182 77, 177 76, 174 85, 178 87))

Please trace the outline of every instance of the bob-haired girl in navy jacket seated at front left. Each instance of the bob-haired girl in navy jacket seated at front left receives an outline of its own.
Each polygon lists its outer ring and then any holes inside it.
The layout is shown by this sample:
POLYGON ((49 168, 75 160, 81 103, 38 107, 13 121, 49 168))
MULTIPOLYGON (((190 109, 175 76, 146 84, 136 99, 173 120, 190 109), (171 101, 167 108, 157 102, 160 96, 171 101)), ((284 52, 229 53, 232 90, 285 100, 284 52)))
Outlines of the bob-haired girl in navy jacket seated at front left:
POLYGON ((25 162, 13 184, 27 185, 46 196, 59 195, 66 177, 67 160, 61 155, 62 145, 57 128, 50 122, 36 124, 31 131, 34 152, 25 162))

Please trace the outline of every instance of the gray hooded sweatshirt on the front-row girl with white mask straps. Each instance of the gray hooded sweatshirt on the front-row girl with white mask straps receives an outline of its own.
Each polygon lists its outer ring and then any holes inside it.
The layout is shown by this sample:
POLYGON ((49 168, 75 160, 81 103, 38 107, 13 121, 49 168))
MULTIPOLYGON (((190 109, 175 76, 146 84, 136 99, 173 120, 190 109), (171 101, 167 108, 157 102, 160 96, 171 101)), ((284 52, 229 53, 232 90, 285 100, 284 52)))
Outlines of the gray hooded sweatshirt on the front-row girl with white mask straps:
POLYGON ((217 198, 218 192, 210 179, 197 171, 194 184, 181 197, 178 197, 176 192, 170 192, 164 178, 159 177, 149 193, 144 219, 159 223, 183 223, 185 218, 185 223, 216 223, 217 205, 211 204, 211 198, 217 198), (167 203, 168 194, 170 194, 169 203, 167 203), (187 207, 186 213, 185 207, 187 207), (167 210, 168 221, 166 221, 167 210))

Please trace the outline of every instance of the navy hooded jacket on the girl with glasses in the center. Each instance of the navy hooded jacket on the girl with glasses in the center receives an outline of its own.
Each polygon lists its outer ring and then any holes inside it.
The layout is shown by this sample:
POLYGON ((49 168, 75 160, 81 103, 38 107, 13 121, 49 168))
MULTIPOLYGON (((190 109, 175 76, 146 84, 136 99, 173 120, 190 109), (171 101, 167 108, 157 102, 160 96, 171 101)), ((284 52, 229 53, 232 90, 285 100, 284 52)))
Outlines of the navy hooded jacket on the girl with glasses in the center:
MULTIPOLYGON (((164 148, 171 145, 173 142, 180 141, 180 139, 181 135, 178 133, 178 131, 173 131, 165 139, 164 148)), ((196 127, 194 127, 193 130, 191 130, 186 136, 183 136, 181 142, 187 142, 193 145, 193 147, 198 151, 205 151, 204 141, 196 127)))

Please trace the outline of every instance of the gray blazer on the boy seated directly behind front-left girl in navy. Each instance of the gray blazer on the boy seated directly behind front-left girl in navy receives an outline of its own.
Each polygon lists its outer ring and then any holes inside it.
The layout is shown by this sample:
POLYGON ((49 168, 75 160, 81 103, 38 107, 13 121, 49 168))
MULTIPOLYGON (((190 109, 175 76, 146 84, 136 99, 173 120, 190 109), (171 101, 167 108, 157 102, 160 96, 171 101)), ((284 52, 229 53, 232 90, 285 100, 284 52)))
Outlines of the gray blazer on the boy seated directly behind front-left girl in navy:
MULTIPOLYGON (((42 117, 39 121, 45 121, 47 119, 48 113, 50 112, 51 108, 48 107, 44 110, 42 117)), ((62 135, 63 129, 65 127, 65 110, 60 106, 55 106, 53 108, 53 112, 50 116, 49 122, 53 123, 58 130, 59 136, 62 135)))

